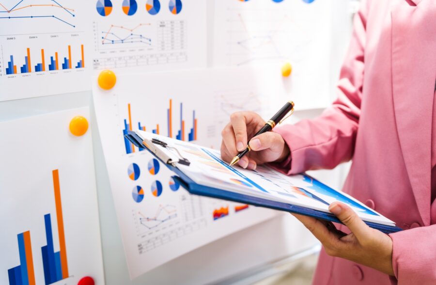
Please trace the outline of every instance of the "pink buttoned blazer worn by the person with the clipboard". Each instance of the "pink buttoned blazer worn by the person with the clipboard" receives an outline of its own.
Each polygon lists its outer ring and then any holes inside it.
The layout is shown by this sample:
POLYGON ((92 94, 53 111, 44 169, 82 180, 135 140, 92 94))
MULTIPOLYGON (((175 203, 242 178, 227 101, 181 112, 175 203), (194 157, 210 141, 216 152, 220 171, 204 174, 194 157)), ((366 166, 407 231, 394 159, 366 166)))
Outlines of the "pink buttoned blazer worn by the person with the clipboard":
POLYGON ((288 174, 352 159, 343 190, 405 229, 390 235, 395 277, 322 251, 314 284, 436 284, 435 79, 436 0, 363 0, 338 99, 276 129, 291 149, 288 174))

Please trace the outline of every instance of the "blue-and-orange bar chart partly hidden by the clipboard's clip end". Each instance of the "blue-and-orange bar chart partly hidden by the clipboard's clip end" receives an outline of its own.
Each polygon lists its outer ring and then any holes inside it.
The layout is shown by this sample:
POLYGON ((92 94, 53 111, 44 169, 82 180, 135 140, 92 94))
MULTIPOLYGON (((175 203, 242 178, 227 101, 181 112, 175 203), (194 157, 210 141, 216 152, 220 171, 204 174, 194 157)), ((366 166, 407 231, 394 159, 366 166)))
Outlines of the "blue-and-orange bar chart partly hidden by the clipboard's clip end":
MULTIPOLYGON (((180 140, 180 141, 188 141, 188 142, 196 141, 197 140, 198 119, 195 115, 195 110, 192 111, 191 118, 188 121, 186 121, 184 119, 183 102, 181 102, 179 104, 177 109, 178 109, 177 117, 179 119, 179 123, 177 125, 174 125, 174 127, 178 127, 178 129, 175 133, 173 132, 174 112, 173 112, 172 99, 169 100, 168 109, 166 110, 167 123, 163 125, 163 126, 166 125, 167 133, 162 132, 163 131, 162 127, 159 127, 159 124, 153 125, 153 127, 151 127, 151 129, 148 129, 148 130, 149 131, 151 130, 153 133, 158 134, 158 135, 165 134, 170 138, 176 138, 177 140, 180 140), (189 130, 188 130, 187 124, 191 125, 189 130)), ((132 111, 131 111, 130 103, 127 104, 127 113, 128 113, 128 117, 125 118, 124 122, 123 122, 123 126, 124 126, 123 136, 126 135, 128 133, 128 131, 135 131, 136 129, 147 131, 147 127, 145 127, 143 124, 141 124, 141 122, 138 122, 138 125, 137 125, 138 128, 132 127, 133 123, 132 123, 132 111)), ((160 126, 162 126, 162 125, 160 125, 160 126)), ((136 151, 133 143, 130 143, 130 141, 127 140, 126 138, 124 138, 124 143, 125 143, 126 154, 131 154, 131 153, 134 153, 136 151)), ((139 149, 139 151, 142 151, 142 150, 143 149, 139 149)))

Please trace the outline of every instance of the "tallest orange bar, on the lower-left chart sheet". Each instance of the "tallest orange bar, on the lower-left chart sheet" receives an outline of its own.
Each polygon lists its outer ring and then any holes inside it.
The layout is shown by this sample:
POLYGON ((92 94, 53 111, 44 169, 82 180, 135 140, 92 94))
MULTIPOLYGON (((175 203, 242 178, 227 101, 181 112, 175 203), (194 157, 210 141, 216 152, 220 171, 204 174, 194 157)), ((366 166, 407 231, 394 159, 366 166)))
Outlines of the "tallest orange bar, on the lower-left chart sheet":
POLYGON ((59 232, 59 252, 61 255, 62 279, 68 278, 68 263, 66 257, 65 232, 63 230, 62 204, 61 204, 61 187, 59 184, 59 171, 53 170, 53 188, 56 204, 56 219, 58 220, 59 232))

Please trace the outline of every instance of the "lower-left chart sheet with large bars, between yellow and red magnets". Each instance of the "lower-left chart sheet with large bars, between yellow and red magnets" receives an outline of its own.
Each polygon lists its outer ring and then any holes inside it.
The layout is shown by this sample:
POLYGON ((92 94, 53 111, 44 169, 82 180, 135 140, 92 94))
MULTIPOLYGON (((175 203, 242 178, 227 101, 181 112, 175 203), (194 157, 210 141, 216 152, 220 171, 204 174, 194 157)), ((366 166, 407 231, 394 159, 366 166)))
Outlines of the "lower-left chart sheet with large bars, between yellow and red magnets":
POLYGON ((80 108, 1 122, 0 284, 104 284, 91 130, 80 108), (31 142, 31 143, 29 143, 31 142))

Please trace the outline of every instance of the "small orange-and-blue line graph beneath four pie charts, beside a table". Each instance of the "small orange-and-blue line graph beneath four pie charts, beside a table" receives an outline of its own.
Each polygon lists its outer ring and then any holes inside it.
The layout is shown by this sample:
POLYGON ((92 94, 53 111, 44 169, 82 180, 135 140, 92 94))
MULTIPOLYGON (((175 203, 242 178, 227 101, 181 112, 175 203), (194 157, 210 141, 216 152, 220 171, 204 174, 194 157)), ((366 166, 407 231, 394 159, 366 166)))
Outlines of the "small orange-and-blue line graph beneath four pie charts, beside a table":
POLYGON ((151 23, 140 23, 134 28, 127 28, 124 26, 110 25, 110 28, 106 32, 101 32, 102 45, 124 44, 124 43, 142 43, 144 45, 151 46, 152 39, 142 35, 136 30, 142 27, 150 27, 151 23), (121 32, 124 32, 121 35, 121 32))

